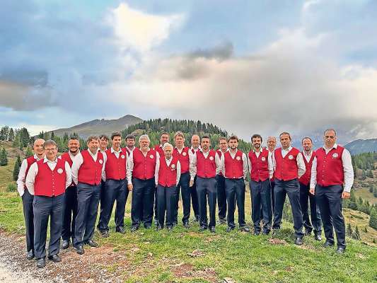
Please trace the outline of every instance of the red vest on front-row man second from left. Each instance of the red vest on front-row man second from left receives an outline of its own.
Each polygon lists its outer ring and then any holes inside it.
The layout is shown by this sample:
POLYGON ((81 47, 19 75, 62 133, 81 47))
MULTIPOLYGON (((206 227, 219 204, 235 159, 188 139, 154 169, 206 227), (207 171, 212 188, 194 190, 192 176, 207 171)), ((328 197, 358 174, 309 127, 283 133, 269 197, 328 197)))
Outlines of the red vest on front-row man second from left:
POLYGON ((79 182, 88 185, 99 185, 103 167, 102 152, 98 151, 97 161, 94 161, 88 150, 81 151, 81 156, 83 156, 83 163, 79 168, 79 182))

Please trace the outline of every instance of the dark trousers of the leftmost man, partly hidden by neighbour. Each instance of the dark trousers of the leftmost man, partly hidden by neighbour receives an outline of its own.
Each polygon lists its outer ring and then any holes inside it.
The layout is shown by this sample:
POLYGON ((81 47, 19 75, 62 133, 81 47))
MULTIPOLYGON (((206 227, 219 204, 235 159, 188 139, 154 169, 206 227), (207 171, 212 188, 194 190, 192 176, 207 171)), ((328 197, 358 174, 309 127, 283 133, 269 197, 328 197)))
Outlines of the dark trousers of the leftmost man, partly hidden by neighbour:
POLYGON ((30 195, 28 189, 22 195, 23 218, 25 219, 26 250, 34 250, 34 195, 30 195))

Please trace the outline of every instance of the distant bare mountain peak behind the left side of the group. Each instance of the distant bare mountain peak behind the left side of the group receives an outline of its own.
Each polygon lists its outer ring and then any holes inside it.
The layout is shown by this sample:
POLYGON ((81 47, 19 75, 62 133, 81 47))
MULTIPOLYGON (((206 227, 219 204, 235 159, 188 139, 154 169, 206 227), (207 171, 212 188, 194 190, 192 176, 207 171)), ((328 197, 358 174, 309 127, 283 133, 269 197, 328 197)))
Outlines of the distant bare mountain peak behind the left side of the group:
POLYGON ((139 117, 125 115, 116 120, 96 119, 70 128, 54 129, 53 132, 59 137, 62 137, 64 133, 76 133, 79 134, 79 137, 86 139, 91 134, 108 134, 110 136, 112 132, 121 132, 130 125, 135 125, 140 122, 143 122, 143 120, 139 117))

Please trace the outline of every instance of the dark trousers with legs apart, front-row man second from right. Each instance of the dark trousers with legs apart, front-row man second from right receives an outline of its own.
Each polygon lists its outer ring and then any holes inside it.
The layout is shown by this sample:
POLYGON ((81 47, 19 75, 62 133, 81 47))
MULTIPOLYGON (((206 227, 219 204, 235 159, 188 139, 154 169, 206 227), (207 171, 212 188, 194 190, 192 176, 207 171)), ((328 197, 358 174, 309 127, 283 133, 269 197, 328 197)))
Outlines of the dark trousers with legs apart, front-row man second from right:
POLYGON ((291 203, 292 214, 294 216, 294 233, 296 237, 303 237, 303 214, 300 205, 300 185, 298 179, 294 180, 279 180, 275 179, 274 197, 274 224, 272 229, 280 229, 282 226, 283 207, 288 195, 289 202, 291 203))

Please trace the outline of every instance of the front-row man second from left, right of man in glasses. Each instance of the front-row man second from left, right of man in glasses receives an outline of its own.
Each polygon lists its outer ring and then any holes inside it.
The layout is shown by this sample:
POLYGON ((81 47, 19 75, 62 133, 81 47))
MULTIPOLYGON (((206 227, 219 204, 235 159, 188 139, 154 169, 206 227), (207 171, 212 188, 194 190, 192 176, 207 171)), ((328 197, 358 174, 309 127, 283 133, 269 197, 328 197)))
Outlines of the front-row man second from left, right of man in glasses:
POLYGON ((88 149, 77 154, 72 164, 72 180, 77 185, 78 204, 74 248, 79 255, 84 253, 84 244, 98 247, 98 243, 92 238, 100 201, 101 178, 105 168, 103 154, 98 150, 98 137, 89 136, 86 144, 88 149))

